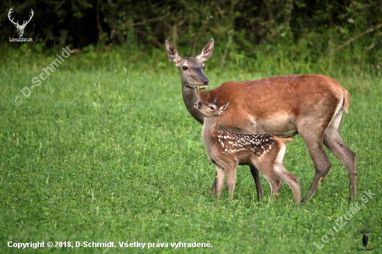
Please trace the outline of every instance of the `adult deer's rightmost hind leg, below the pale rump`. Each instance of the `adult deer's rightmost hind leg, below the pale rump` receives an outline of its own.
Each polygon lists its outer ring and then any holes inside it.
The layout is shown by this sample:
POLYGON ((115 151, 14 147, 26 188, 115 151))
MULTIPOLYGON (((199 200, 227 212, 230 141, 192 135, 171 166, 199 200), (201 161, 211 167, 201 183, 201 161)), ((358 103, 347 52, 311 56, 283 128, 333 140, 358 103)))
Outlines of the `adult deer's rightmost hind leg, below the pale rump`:
POLYGON ((326 128, 324 132, 324 144, 347 169, 347 173, 349 174, 349 202, 351 202, 356 200, 357 155, 344 144, 340 137, 339 128, 342 113, 343 109, 340 108, 326 128))

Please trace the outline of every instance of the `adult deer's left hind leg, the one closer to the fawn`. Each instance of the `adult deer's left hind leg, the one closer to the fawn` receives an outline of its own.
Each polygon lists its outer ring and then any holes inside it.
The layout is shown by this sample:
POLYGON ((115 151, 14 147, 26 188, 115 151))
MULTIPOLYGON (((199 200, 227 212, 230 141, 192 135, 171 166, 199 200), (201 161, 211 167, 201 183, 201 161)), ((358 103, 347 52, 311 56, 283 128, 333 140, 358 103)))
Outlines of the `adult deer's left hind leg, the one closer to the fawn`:
POLYGON ((304 203, 315 194, 318 184, 324 180, 326 173, 331 169, 331 162, 329 161, 328 155, 326 155, 323 143, 324 127, 326 126, 319 126, 317 122, 311 121, 310 119, 300 124, 304 126, 304 128, 299 130, 299 133, 302 139, 304 139, 310 158, 312 158, 315 166, 315 178, 313 178, 313 183, 310 185, 308 194, 306 194, 301 201, 304 203))

